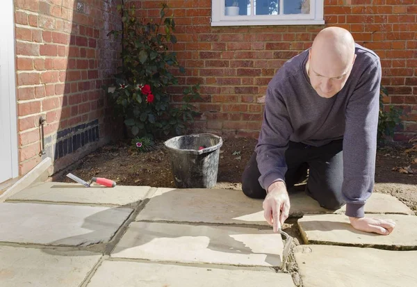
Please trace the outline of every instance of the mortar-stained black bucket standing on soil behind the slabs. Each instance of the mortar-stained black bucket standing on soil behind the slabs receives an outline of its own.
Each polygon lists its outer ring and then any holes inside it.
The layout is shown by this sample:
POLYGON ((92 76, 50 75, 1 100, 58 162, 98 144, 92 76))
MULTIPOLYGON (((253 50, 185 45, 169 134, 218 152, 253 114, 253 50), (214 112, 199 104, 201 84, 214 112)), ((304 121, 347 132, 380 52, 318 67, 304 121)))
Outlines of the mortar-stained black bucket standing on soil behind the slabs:
POLYGON ((197 133, 164 142, 177 188, 212 188, 217 183, 220 136, 197 133))

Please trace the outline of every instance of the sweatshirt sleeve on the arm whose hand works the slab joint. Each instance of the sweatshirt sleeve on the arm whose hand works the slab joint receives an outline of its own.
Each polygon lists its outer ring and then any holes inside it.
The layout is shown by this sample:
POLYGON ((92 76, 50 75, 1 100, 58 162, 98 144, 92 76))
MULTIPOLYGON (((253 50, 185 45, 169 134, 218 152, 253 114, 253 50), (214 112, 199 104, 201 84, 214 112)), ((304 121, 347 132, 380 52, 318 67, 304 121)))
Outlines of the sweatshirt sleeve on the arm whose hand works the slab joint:
POLYGON ((269 85, 265 97, 263 122, 256 145, 256 161, 258 163, 259 183, 268 191, 275 181, 284 181, 287 170, 285 151, 293 132, 284 99, 279 90, 269 85))

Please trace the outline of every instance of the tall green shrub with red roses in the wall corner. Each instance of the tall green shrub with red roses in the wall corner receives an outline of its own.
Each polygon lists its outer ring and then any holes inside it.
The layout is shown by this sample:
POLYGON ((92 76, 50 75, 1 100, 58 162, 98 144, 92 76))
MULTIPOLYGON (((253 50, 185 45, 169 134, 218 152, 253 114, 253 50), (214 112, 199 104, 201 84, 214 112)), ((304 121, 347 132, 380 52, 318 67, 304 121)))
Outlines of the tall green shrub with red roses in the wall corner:
POLYGON ((199 86, 183 91, 183 104, 172 108, 167 88, 178 85, 172 74, 172 67, 185 72, 177 60, 177 54, 170 51, 170 44, 177 43, 172 34, 175 28, 173 17, 166 17, 166 4, 161 4, 159 23, 144 23, 135 17, 134 7, 126 9, 117 6, 122 15, 122 30, 111 31, 108 35, 122 36, 122 67, 114 75, 108 92, 116 115, 124 119, 133 136, 158 136, 186 131, 186 123, 193 122, 198 115, 193 99, 201 99, 199 86))

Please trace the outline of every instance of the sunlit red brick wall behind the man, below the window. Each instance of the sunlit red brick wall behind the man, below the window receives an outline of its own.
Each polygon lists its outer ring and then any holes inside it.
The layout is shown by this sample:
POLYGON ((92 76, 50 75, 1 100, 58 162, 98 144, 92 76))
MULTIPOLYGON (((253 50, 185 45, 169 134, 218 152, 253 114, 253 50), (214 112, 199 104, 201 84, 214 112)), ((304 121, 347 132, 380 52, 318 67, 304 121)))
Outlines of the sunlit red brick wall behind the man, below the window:
MULTIPOLYGON (((202 84, 203 112, 196 131, 257 136, 268 81, 281 65, 311 46, 325 26, 341 26, 382 58, 386 104, 404 108, 404 131, 417 132, 417 1, 325 0, 323 26, 211 27, 211 0, 131 1, 143 17, 157 17, 161 2, 174 10, 179 43, 174 49, 186 67, 182 84, 202 84)), ((172 89, 180 92, 180 89, 172 89)), ((174 97, 178 99, 178 97, 174 97)))

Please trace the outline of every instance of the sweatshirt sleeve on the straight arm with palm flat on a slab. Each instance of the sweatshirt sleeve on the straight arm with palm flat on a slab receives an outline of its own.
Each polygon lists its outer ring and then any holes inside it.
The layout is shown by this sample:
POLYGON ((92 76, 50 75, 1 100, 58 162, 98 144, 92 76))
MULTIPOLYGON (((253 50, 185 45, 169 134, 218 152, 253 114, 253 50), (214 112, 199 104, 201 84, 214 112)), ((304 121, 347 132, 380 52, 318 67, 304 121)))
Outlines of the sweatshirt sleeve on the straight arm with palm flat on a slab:
POLYGON ((373 192, 381 75, 378 58, 364 70, 345 112, 342 193, 350 217, 364 216, 373 192))

